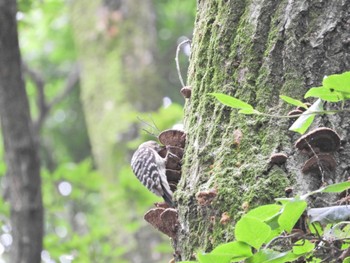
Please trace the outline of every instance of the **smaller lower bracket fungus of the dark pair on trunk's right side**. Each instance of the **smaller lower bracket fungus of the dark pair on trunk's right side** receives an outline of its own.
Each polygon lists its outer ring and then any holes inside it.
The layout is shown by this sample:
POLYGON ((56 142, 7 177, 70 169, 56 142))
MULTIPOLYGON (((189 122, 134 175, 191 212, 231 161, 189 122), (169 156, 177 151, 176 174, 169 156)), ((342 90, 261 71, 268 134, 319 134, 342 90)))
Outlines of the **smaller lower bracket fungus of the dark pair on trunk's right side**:
POLYGON ((334 171, 337 167, 337 162, 334 157, 328 153, 314 155, 304 163, 302 172, 305 173, 320 173, 320 168, 326 171, 334 171))

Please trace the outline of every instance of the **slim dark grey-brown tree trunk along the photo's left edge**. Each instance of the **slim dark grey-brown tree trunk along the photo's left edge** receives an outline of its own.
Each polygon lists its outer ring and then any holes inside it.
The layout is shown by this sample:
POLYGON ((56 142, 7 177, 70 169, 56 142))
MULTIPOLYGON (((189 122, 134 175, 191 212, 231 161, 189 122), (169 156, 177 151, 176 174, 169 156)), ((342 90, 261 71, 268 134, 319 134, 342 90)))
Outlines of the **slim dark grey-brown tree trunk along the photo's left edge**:
POLYGON ((0 0, 0 118, 7 163, 14 263, 39 263, 43 237, 40 161, 21 72, 16 1, 0 0))

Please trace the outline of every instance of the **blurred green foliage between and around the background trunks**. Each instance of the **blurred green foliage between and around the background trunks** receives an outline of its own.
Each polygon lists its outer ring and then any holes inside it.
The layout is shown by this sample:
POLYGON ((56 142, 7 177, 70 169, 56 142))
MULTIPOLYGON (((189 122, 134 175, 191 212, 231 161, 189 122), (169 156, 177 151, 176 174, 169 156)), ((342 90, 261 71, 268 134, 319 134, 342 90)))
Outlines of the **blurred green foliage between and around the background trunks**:
MULTIPOLYGON (((18 1, 19 38, 22 58, 45 81, 45 97, 51 101, 64 88, 66 78, 77 61, 77 53, 70 22, 69 4, 64 0, 18 1)), ((157 15, 159 40, 159 74, 167 83, 166 94, 182 103, 179 95, 179 81, 174 64, 177 39, 182 35, 191 36, 195 14, 195 1, 154 1, 157 15)), ((186 57, 181 63, 186 68, 186 57)), ((27 94, 33 120, 38 118, 37 89, 26 77, 27 94)), ((154 122, 159 130, 170 128, 181 122, 182 106, 173 103, 155 112, 130 114, 148 123, 154 122)), ((139 125, 142 126, 142 125, 139 125)), ((147 125, 143 128, 150 130, 147 125)), ((155 130, 152 130, 155 132, 155 130)), ((153 137, 141 130, 140 136, 128 143, 130 150, 153 137)), ((135 211, 135 219, 125 222, 123 227, 133 235, 144 222, 143 213, 159 201, 135 178, 124 158, 123 167, 117 175, 118 183, 106 182, 95 166, 91 154, 89 136, 84 112, 80 103, 79 84, 49 112, 40 132, 40 152, 42 161, 43 198, 45 206, 45 239, 43 262, 124 262, 133 244, 115 247, 114 236, 106 211, 113 207, 115 200, 127 200, 135 211), (62 195, 59 186, 68 183, 71 192, 62 195), (101 189, 103 188, 103 191, 101 189), (108 192, 108 200, 103 192, 108 192)), ((9 234, 9 207, 6 202, 6 165, 4 150, 0 142, 0 176, 3 201, 0 202, 0 235, 9 234)), ((116 208, 118 211, 118 208, 116 208)), ((115 207, 111 211, 116 211, 115 207)), ((123 213, 123 211, 120 211, 123 213)), ((10 247, 0 242, 4 252, 0 259, 6 260, 10 247)), ((157 253, 169 254, 168 241, 156 248, 157 253)), ((126 262, 126 261, 125 261, 126 262)))

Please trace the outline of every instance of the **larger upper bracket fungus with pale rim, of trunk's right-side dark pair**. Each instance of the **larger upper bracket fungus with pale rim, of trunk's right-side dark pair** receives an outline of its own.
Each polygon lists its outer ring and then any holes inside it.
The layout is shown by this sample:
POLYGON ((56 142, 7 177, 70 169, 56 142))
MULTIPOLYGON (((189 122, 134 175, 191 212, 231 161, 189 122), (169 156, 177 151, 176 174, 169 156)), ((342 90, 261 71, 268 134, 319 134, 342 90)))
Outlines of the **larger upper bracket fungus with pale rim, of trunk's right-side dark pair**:
POLYGON ((308 155, 313 155, 313 152, 331 153, 339 149, 340 137, 334 130, 321 127, 300 137, 295 147, 308 155))

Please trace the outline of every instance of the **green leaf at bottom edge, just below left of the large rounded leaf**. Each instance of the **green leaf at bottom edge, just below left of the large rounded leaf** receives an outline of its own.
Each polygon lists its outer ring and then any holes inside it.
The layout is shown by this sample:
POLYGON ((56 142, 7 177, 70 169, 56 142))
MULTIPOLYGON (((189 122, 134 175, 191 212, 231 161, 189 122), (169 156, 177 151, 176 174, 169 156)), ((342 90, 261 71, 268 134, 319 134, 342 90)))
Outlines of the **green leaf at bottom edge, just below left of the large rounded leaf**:
POLYGON ((229 262, 238 262, 252 256, 252 247, 246 243, 234 241, 217 246, 210 254, 230 256, 229 262))

